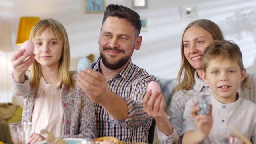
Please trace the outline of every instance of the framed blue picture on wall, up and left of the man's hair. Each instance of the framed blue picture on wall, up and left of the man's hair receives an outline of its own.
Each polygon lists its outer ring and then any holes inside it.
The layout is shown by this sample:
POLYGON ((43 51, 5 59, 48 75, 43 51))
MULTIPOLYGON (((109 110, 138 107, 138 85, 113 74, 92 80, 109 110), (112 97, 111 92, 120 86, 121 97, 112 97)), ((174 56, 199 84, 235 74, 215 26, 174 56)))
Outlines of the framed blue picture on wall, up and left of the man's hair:
POLYGON ((85 13, 103 13, 105 0, 85 0, 85 13))

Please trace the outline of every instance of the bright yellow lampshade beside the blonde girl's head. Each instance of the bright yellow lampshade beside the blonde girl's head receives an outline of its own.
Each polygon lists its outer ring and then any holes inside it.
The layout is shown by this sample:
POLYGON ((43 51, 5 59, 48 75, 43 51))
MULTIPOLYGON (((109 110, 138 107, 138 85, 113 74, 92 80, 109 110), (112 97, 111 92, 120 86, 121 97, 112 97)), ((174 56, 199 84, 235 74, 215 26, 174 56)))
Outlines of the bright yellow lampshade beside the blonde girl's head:
POLYGON ((17 45, 21 45, 24 41, 29 39, 30 31, 34 24, 38 22, 40 18, 38 17, 21 17, 18 34, 17 34, 17 45))

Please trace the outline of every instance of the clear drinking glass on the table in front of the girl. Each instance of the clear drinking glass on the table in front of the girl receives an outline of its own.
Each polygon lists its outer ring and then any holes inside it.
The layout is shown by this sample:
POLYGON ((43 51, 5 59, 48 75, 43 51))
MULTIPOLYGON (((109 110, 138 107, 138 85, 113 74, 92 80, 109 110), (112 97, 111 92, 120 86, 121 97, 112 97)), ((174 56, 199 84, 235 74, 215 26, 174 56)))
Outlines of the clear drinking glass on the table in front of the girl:
POLYGON ((10 133, 14 144, 28 144, 32 122, 10 123, 10 133))

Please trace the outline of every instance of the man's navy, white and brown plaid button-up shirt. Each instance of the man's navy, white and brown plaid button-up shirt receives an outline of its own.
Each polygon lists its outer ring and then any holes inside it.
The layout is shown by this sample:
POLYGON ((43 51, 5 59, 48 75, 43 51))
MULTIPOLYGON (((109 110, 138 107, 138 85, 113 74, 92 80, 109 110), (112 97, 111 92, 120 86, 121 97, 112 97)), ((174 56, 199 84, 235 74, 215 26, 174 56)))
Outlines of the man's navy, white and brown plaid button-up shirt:
MULTIPOLYGON (((91 64, 93 70, 100 72, 100 58, 91 64)), ((108 88, 122 97, 128 105, 128 118, 124 121, 112 119, 108 113, 95 104, 96 128, 98 137, 113 136, 123 142, 148 142, 148 130, 152 118, 144 112, 142 99, 146 94, 150 81, 156 81, 155 76, 132 63, 121 70, 116 76, 108 80, 108 88)))

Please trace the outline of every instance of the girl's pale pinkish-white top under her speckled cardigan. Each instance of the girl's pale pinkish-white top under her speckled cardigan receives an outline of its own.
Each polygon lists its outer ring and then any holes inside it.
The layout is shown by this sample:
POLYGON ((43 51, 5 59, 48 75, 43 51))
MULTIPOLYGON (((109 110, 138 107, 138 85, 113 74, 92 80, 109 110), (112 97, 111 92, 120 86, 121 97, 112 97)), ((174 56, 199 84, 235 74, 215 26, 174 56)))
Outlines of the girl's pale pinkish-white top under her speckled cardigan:
POLYGON ((40 87, 38 90, 38 98, 36 99, 34 110, 32 113, 32 131, 46 137, 47 134, 42 134, 41 130, 48 129, 51 124, 55 124, 52 131, 55 137, 64 136, 64 116, 62 102, 60 99, 60 91, 56 84, 46 84, 44 78, 40 80, 40 87))

